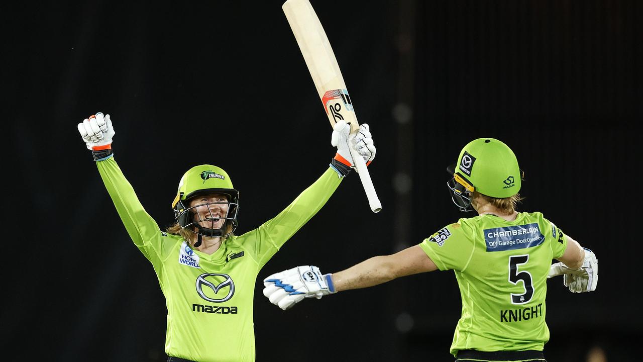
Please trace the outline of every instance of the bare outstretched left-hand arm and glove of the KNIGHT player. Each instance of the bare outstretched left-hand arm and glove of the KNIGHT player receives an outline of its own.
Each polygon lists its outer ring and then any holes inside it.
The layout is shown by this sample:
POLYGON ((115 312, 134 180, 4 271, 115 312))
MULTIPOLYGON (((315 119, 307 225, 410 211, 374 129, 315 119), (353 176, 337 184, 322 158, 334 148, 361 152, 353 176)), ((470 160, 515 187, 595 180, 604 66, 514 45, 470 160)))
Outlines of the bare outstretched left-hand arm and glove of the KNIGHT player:
POLYGON ((372 287, 401 276, 435 271, 437 266, 415 245, 391 255, 375 256, 333 274, 303 265, 264 279, 264 296, 281 309, 290 309, 305 298, 372 287))

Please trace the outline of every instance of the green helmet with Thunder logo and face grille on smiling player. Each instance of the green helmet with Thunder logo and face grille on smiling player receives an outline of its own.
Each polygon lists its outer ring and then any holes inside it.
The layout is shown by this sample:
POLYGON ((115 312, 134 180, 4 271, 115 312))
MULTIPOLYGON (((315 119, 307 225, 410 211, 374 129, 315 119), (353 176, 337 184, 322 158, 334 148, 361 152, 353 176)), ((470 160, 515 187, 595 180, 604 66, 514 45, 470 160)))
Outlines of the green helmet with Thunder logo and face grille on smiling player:
POLYGON ((179 189, 172 202, 176 221, 183 229, 190 230, 199 235, 195 246, 201 244, 201 236, 223 237, 228 236, 237 228, 237 211, 239 211, 239 191, 232 186, 228 173, 221 167, 212 165, 200 165, 189 169, 179 182, 179 189), (209 202, 190 207, 190 199, 196 196, 203 196, 212 193, 221 193, 228 196, 227 202, 209 202), (209 205, 228 204, 228 213, 224 217, 213 217, 209 205), (210 218, 201 219, 197 217, 196 207, 207 205, 210 210, 210 218), (220 229, 210 229, 202 224, 214 223, 217 220, 225 219, 226 222, 220 229), (231 227, 228 227, 231 225, 231 227))

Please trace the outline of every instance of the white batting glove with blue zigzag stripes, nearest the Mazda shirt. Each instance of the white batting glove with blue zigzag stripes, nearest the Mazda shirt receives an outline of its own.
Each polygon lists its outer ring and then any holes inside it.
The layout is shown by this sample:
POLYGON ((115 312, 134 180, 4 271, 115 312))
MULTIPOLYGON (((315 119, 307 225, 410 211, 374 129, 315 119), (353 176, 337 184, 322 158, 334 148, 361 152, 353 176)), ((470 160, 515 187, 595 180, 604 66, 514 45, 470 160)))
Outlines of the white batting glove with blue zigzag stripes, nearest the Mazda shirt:
POLYGON ((264 296, 283 310, 291 309, 305 298, 321 299, 334 292, 331 274, 322 275, 313 265, 294 267, 264 279, 264 296))

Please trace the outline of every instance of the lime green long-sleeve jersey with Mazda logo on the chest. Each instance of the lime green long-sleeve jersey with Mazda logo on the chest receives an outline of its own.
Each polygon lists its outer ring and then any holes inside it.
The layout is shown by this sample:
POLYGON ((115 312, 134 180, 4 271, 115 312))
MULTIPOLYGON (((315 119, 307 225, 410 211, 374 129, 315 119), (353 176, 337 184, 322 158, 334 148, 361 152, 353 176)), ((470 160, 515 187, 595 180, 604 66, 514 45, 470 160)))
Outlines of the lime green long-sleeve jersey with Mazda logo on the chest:
POLYGON ((199 362, 255 361, 258 272, 327 202, 341 182, 337 173, 329 167, 275 218, 228 237, 208 255, 159 229, 114 158, 96 164, 127 233, 154 266, 165 295, 165 353, 199 362))

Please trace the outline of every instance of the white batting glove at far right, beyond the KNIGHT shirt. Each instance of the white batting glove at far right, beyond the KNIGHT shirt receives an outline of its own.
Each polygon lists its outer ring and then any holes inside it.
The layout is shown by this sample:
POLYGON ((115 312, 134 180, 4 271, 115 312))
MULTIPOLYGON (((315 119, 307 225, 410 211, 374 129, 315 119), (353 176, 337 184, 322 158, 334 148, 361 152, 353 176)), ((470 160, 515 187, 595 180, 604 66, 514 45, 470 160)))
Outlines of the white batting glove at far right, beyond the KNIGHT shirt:
POLYGON ((596 255, 587 248, 583 265, 579 269, 570 269, 562 262, 554 263, 549 269, 547 278, 565 275, 563 285, 572 293, 593 292, 599 282, 599 261, 596 255))

